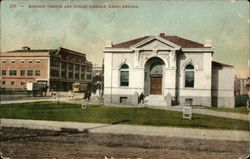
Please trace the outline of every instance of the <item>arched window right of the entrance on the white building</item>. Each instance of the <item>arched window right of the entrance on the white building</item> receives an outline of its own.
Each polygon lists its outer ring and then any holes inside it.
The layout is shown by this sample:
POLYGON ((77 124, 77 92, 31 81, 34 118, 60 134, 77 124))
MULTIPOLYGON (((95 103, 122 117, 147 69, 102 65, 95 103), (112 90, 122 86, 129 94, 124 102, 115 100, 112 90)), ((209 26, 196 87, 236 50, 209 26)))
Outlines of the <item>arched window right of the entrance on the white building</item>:
POLYGON ((194 66, 192 64, 185 67, 185 87, 194 87, 194 66))

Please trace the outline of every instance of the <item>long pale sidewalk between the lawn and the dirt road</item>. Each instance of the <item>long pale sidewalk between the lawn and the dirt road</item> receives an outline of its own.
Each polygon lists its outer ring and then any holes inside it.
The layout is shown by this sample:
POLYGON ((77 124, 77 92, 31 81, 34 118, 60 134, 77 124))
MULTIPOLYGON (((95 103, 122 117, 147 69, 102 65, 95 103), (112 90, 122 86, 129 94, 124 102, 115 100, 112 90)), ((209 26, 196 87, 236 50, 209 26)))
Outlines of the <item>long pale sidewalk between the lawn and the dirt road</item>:
POLYGON ((149 136, 180 137, 208 140, 249 141, 247 131, 208 130, 176 127, 134 126, 119 124, 96 124, 44 120, 1 119, 1 127, 61 130, 75 129, 89 133, 137 134, 149 136))

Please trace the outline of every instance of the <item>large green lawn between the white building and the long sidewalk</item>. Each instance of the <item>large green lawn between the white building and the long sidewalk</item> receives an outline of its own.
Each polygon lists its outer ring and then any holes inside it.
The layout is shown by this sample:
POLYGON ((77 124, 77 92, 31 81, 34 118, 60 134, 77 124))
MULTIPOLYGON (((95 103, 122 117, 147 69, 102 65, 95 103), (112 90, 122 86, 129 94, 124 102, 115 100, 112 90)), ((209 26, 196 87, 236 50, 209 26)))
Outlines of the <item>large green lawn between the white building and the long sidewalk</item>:
POLYGON ((34 102, 4 104, 1 118, 75 121, 90 123, 120 123, 133 125, 191 127, 223 130, 248 130, 247 121, 193 114, 192 120, 182 119, 182 113, 169 110, 132 107, 92 106, 83 110, 78 104, 34 102))

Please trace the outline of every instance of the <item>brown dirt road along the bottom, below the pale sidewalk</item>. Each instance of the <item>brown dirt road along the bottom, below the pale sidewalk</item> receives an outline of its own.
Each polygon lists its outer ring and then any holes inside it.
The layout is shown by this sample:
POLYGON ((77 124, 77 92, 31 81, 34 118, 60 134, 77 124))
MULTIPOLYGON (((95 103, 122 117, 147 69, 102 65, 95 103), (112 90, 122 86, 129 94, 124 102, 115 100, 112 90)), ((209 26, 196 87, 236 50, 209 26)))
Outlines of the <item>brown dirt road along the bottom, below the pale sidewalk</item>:
POLYGON ((143 135, 1 129, 1 152, 11 159, 239 159, 249 143, 143 135))

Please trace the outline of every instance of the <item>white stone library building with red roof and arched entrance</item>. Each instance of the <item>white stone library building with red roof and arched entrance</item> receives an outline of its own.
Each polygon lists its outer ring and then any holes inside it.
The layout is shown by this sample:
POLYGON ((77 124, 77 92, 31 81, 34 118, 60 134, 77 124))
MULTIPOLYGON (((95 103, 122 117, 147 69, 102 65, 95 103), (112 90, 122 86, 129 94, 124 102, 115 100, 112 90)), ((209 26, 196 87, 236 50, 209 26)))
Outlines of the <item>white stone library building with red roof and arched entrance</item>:
MULTIPOLYGON (((220 63, 212 62, 214 50, 209 44, 161 33, 159 36, 145 36, 116 45, 109 42, 103 52, 106 104, 137 105, 135 94, 139 96, 143 93, 151 106, 180 104, 211 107, 215 103, 214 97, 219 99, 217 107, 233 106, 232 102, 226 100, 228 97, 234 98, 231 82, 223 86, 212 84, 213 65, 220 63), (124 66, 126 69, 123 69, 124 66), (123 85, 123 80, 127 80, 128 84, 123 85), (220 92, 225 89, 229 93, 226 96, 212 93, 212 90, 220 92), (223 103, 221 99, 227 102, 223 103)), ((230 76, 221 74, 231 80, 233 67, 221 66, 230 72, 230 76)))

